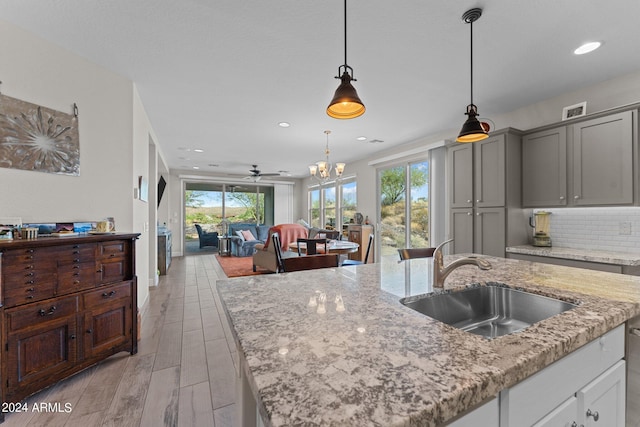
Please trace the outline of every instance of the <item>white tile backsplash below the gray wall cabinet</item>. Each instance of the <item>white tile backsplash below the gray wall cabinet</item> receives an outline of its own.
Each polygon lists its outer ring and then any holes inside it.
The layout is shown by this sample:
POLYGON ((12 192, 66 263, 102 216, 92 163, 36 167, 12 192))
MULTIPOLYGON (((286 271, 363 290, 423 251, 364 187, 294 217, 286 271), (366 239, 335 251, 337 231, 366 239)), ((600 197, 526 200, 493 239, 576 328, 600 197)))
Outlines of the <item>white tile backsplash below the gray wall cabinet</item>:
POLYGON ((640 252, 640 207, 540 210, 552 213, 553 246, 640 252))

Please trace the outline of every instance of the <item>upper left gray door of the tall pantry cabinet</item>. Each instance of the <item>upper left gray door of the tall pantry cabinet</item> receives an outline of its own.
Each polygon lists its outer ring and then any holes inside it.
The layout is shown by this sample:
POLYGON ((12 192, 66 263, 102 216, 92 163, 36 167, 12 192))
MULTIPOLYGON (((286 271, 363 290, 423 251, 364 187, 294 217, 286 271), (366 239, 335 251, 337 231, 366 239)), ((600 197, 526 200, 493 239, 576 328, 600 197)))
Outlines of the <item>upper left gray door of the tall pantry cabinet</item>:
POLYGON ((449 148, 449 200, 452 208, 473 206, 473 144, 449 148))

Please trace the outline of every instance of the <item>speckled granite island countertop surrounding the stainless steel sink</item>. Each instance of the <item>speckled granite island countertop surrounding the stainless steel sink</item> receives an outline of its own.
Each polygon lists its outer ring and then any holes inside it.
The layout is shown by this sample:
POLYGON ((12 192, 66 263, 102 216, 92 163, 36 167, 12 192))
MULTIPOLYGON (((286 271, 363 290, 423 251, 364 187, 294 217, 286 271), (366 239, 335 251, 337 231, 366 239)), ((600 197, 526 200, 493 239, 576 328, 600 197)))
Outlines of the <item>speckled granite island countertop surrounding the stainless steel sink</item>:
POLYGON ((441 425, 640 314, 640 277, 487 258, 446 290, 497 282, 580 305, 489 340, 400 304, 433 291, 431 258, 218 281, 265 425, 441 425))

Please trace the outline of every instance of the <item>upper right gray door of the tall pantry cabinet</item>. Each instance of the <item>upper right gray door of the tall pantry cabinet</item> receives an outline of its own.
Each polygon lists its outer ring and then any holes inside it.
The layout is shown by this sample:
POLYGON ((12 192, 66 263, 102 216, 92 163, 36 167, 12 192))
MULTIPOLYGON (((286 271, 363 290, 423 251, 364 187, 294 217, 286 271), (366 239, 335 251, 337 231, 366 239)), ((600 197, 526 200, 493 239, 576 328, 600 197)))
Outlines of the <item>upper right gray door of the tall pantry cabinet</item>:
POLYGON ((475 207, 505 205, 504 135, 476 142, 475 145, 475 207))

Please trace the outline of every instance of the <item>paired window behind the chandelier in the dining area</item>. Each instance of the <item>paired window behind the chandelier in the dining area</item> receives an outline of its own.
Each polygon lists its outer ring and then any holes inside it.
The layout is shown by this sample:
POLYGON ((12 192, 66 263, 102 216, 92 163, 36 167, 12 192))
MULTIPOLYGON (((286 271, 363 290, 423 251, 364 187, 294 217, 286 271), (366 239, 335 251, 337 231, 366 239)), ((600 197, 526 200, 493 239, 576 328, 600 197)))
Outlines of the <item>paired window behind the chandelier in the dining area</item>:
POLYGON ((345 229, 356 212, 356 190, 355 178, 309 187, 309 224, 345 229))

